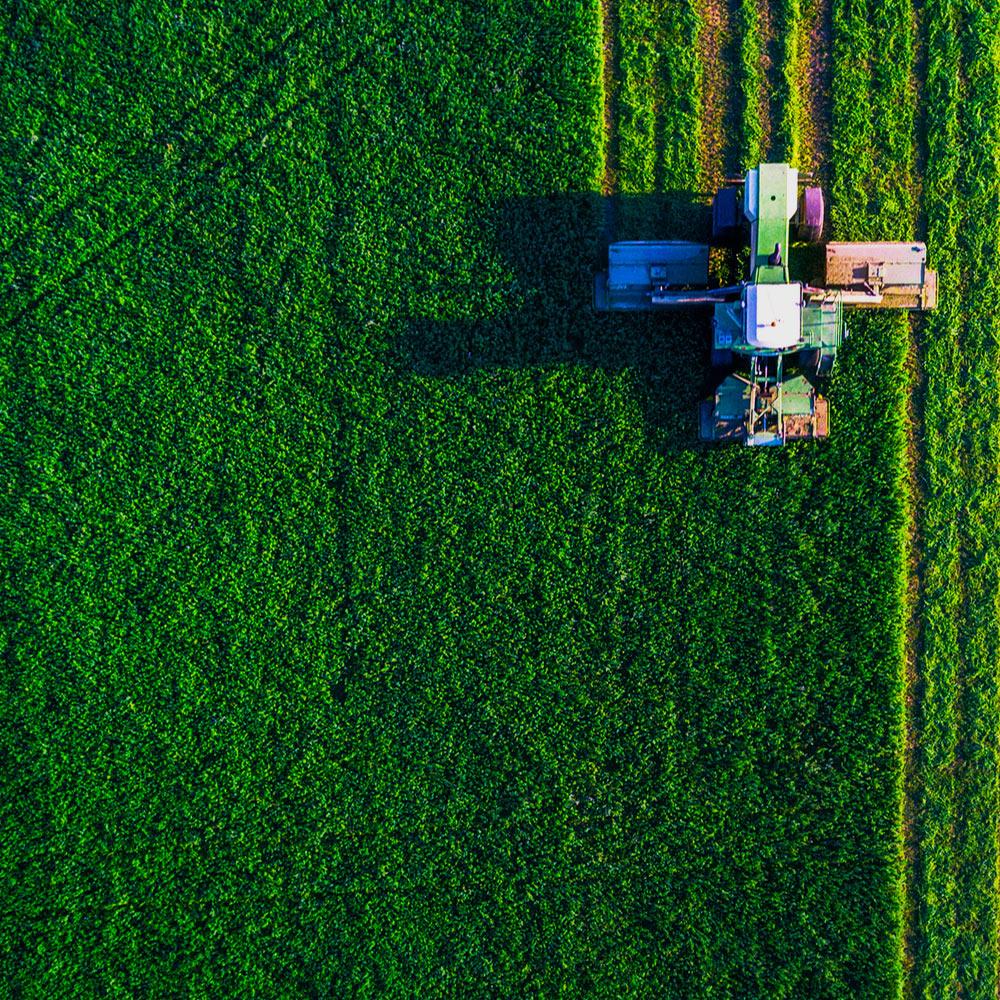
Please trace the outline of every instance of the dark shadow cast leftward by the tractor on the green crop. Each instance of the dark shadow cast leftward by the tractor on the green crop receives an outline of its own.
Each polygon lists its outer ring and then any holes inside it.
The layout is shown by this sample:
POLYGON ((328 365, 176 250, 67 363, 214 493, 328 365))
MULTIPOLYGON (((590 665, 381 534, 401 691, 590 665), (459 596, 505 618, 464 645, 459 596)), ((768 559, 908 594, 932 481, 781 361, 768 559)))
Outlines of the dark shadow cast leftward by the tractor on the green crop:
MULTIPOLYGON (((594 275, 615 240, 707 242, 710 199, 691 192, 602 198, 594 193, 510 198, 477 220, 493 253, 490 314, 412 316, 392 351, 400 374, 460 377, 482 369, 581 365, 636 376, 647 437, 664 451, 698 447, 696 411, 714 387, 709 308, 609 314, 593 308, 594 275), (500 306, 497 307, 496 303, 500 306)), ((441 286, 453 299, 460 288, 441 286)))

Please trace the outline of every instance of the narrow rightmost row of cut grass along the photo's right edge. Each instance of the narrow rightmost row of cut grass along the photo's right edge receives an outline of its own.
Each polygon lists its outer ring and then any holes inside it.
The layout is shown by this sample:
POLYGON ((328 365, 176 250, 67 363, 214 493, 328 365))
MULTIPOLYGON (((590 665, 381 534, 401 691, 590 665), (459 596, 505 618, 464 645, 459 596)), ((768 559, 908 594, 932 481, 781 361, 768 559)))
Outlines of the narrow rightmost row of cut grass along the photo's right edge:
POLYGON ((959 188, 966 222, 961 369, 964 487, 958 518, 962 575, 961 729, 956 772, 956 954, 963 995, 991 997, 997 981, 998 664, 1000 664, 1000 12, 963 4, 965 94, 959 188))

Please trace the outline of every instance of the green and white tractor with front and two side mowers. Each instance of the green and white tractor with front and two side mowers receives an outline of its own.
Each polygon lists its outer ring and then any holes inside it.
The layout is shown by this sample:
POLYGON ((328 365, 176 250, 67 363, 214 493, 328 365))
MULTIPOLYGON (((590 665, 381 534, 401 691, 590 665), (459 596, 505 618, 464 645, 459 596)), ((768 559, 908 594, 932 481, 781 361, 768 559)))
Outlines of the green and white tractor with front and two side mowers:
POLYGON ((713 308, 712 364, 729 374, 700 405, 702 440, 780 445, 825 438, 829 406, 816 381, 833 369, 846 336, 844 310, 937 304, 937 275, 926 266, 923 243, 823 244, 823 222, 820 188, 786 163, 762 163, 712 203, 714 243, 733 246, 749 230, 750 273, 738 284, 709 287, 705 244, 608 247, 608 269, 595 281, 596 309, 713 308), (793 226, 797 244, 822 250, 818 284, 789 275, 793 226))

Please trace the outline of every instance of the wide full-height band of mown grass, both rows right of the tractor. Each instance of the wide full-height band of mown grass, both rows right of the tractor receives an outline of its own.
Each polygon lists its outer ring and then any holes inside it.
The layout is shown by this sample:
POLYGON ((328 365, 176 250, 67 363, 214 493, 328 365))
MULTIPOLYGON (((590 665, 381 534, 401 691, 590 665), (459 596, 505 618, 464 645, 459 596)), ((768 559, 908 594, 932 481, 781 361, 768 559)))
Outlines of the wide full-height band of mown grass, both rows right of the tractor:
POLYGON ((914 995, 997 983, 995 13, 929 4, 924 207, 942 288, 925 329, 924 573, 914 995), (967 137, 976 135, 975 143, 967 137))

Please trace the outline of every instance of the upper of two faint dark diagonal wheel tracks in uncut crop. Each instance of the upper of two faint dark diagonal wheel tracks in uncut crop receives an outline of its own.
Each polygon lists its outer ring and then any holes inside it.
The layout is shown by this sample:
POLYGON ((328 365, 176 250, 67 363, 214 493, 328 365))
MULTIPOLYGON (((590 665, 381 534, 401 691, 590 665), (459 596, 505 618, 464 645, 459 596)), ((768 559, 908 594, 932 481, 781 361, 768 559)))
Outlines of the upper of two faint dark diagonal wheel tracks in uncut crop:
MULTIPOLYGON (((76 193, 72 200, 66 202, 64 205, 50 212, 48 215, 39 218, 32 218, 28 222, 27 228, 15 236, 6 247, 0 250, 0 256, 8 257, 17 254, 24 248, 25 241, 38 230, 58 228, 63 220, 72 215, 74 209, 93 196, 100 195, 101 192, 107 188, 108 184, 118 177, 123 167, 128 166, 134 161, 140 160, 142 157, 149 156, 153 149, 158 146, 162 146, 169 140, 179 139, 181 137, 180 133, 187 127, 187 125, 190 124, 196 115, 204 111, 212 103, 225 98, 235 89, 246 86, 248 83, 248 73, 252 73, 253 78, 256 78, 261 73, 274 69, 275 66, 278 65, 281 57, 285 55, 286 50, 296 42, 303 39, 305 35, 310 32, 321 20, 323 20, 323 18, 319 15, 311 18, 305 24, 289 32, 288 35, 286 35, 272 48, 261 53, 253 60, 247 60, 244 62, 244 64, 237 68, 235 73, 228 80, 219 84, 216 89, 206 94, 192 107, 188 108, 188 110, 182 115, 172 121, 168 126, 160 129, 151 137, 144 139, 138 135, 131 136, 128 142, 108 154, 109 158, 115 161, 113 169, 107 171, 102 176, 91 180, 76 193), (136 146, 137 142, 140 143, 138 147, 136 146)), ((345 63, 343 71, 348 71, 353 68, 353 65, 357 64, 361 55, 361 52, 355 53, 352 59, 345 63)), ((221 73, 219 76, 221 76, 221 73)), ((212 80, 209 85, 213 86, 217 83, 217 81, 218 77, 212 80)), ((47 110, 59 114, 64 120, 68 120, 71 117, 70 115, 64 114, 61 109, 58 109, 48 103, 45 104, 45 107, 47 110)))

